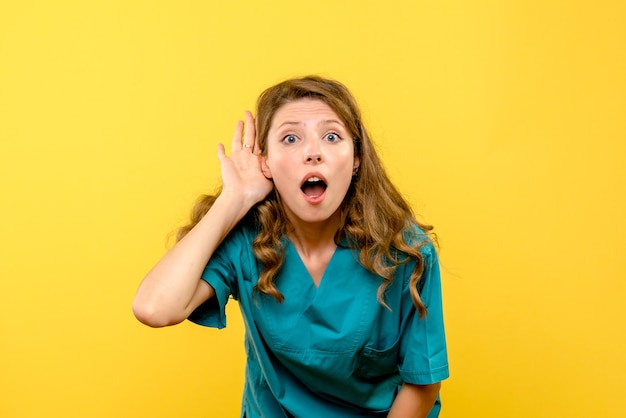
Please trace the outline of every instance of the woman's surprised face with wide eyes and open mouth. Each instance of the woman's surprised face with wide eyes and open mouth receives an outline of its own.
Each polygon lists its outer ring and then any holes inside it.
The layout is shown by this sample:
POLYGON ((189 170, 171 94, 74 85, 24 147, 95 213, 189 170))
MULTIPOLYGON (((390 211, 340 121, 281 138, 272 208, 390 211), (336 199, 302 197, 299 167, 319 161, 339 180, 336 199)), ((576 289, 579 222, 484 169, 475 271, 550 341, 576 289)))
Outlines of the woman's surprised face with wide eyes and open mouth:
POLYGON ((336 216, 358 166, 351 135, 326 103, 300 99, 274 114, 263 172, 292 223, 336 216))

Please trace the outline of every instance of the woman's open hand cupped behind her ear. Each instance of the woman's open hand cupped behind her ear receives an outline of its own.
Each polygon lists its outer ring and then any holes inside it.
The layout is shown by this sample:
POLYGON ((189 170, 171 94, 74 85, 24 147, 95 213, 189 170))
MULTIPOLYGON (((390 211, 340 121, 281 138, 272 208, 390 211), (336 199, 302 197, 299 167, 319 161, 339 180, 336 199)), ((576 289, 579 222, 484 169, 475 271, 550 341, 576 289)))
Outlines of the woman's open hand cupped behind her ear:
POLYGON ((218 145, 217 156, 222 170, 222 194, 234 195, 252 207, 272 191, 274 184, 261 171, 261 150, 252 113, 246 111, 245 119, 245 133, 243 121, 238 121, 235 127, 230 157, 222 144, 218 145))

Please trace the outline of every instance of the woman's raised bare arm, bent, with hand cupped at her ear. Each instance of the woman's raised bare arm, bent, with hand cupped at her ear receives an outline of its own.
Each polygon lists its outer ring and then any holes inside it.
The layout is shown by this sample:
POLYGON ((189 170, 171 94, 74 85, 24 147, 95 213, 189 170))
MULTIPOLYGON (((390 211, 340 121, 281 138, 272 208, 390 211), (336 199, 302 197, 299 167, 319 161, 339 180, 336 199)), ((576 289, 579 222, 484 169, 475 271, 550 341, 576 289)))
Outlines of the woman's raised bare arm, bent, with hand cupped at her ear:
POLYGON ((228 233, 272 189, 260 166, 254 119, 246 112, 246 132, 239 121, 231 156, 219 145, 222 193, 209 212, 146 275, 133 301, 133 312, 152 327, 184 321, 202 302, 213 297, 213 288, 201 279, 207 262, 228 233), (250 144, 252 147, 242 147, 250 144))

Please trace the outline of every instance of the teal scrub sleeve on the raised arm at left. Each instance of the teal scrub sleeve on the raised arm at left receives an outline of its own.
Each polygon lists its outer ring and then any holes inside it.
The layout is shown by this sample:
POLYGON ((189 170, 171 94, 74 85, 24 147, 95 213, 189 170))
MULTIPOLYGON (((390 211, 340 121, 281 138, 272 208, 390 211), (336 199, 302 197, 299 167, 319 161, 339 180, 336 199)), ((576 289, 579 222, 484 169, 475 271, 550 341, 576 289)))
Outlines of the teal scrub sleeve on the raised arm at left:
POLYGON ((214 290, 215 296, 201 304, 189 315, 189 320, 205 327, 222 329, 226 327, 226 304, 230 296, 237 298, 238 268, 233 260, 237 259, 237 234, 231 233, 216 249, 202 272, 202 280, 214 290))

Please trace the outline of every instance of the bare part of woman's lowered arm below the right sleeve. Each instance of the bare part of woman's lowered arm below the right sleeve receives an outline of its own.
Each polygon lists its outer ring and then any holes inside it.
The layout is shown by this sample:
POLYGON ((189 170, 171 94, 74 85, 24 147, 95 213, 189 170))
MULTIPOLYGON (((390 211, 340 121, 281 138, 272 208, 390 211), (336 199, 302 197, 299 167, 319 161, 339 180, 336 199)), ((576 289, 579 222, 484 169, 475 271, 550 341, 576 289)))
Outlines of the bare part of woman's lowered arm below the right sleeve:
POLYGON ((433 408, 441 382, 432 385, 403 383, 391 405, 388 418, 426 418, 433 408))

